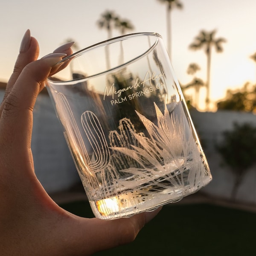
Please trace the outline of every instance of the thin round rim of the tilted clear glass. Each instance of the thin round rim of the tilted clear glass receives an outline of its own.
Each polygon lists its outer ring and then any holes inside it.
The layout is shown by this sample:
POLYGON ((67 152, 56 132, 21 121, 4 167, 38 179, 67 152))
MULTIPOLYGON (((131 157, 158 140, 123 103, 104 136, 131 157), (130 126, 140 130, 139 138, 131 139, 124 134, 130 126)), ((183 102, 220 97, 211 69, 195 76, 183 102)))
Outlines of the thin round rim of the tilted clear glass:
MULTIPOLYGON (((90 51, 90 50, 93 50, 93 49, 96 49, 97 47, 104 47, 108 44, 112 44, 112 43, 115 43, 115 42, 118 42, 118 41, 122 41, 122 40, 126 40, 128 38, 133 38, 133 37, 136 37, 136 36, 142 36, 142 35, 147 35, 147 36, 155 36, 157 38, 161 38, 162 39, 162 36, 160 34, 158 34, 157 32, 137 32, 137 33, 131 33, 131 34, 127 34, 127 35, 121 35, 121 36, 117 36, 117 37, 114 37, 114 38, 110 38, 110 39, 107 39, 105 41, 101 41, 99 43, 96 43, 96 44, 93 44, 93 45, 90 45, 89 47, 85 47, 77 52, 74 52, 72 53, 71 55, 68 55, 66 57, 64 57, 61 61, 58 61, 55 65, 58 65, 58 64, 61 64, 61 63, 64 63, 66 61, 71 61, 73 58, 76 58, 78 57, 79 55, 82 55, 83 53, 87 52, 87 51, 90 51)), ((156 40, 157 42, 157 40, 156 40)), ((91 77, 94 77, 94 76, 98 76, 98 75, 101 75, 103 73, 106 73, 106 72, 109 72, 109 71, 112 71, 112 70, 115 70, 116 68, 119 68, 119 67, 123 67, 125 66, 126 64, 128 63, 131 63, 132 61, 134 60, 137 60, 138 58, 140 58, 141 56, 145 55, 145 53, 147 53, 148 51, 150 51, 154 45, 156 44, 156 42, 154 44, 152 44, 151 47, 149 47, 147 49, 147 51, 143 52, 141 55, 138 55, 136 58, 131 58, 131 60, 125 62, 125 63, 122 63, 118 66, 115 66, 115 67, 112 67, 108 70, 104 70, 102 71, 101 73, 97 73, 97 74, 93 74, 91 76, 87 76, 86 79, 88 78, 91 78, 91 77)), ((54 74, 55 75, 55 74, 54 74)), ((52 75, 52 76, 54 76, 52 75)), ((51 77, 52 76, 49 76, 47 78, 47 80, 50 80, 52 81, 51 77)), ((80 79, 79 79, 80 80, 80 79)), ((54 81, 55 83, 58 83, 58 82, 64 82, 64 81, 54 81)), ((67 82, 67 81, 66 81, 67 82)))

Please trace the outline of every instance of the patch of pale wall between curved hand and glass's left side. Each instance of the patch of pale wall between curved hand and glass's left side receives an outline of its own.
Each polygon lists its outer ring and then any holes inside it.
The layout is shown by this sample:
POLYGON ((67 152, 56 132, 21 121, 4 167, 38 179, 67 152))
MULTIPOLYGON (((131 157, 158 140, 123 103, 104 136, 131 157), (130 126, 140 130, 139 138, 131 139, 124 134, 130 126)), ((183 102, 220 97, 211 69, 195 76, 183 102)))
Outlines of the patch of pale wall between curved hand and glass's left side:
POLYGON ((31 148, 35 174, 48 193, 68 189, 80 181, 61 123, 46 94, 39 95, 35 104, 31 148))

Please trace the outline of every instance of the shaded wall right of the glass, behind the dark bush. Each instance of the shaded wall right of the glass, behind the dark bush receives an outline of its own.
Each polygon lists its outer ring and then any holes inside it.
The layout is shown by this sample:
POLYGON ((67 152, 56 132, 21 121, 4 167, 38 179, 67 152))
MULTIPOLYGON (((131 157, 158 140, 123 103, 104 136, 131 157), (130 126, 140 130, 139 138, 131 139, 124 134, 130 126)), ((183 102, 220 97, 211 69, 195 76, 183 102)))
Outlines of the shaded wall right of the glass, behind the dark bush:
MULTIPOLYGON (((202 138, 204 152, 212 173, 212 182, 203 191, 210 195, 230 198, 234 175, 229 167, 224 165, 221 156, 215 150, 215 145, 221 141, 223 131, 233 129, 233 122, 240 124, 249 122, 256 125, 256 116, 253 113, 236 111, 217 111, 216 113, 191 111, 191 117, 202 138)), ((253 166, 245 175, 236 199, 256 203, 256 166, 253 166)))

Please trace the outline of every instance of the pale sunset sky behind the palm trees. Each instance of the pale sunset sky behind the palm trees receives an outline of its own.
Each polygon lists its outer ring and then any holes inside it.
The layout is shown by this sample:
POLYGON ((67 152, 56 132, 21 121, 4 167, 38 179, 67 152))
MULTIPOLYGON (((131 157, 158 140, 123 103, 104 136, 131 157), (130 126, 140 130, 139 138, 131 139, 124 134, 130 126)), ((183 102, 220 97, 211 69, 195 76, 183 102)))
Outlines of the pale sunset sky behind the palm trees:
MULTIPOLYGON (((212 51, 210 98, 223 99, 227 89, 241 88, 246 82, 256 83, 256 62, 250 55, 256 52, 255 0, 180 0, 183 9, 172 11, 172 65, 181 84, 193 76, 186 73, 190 63, 201 70, 196 76, 206 79, 204 51, 192 51, 189 44, 204 29, 216 29, 216 38, 225 38, 224 51, 212 51)), ((106 10, 134 25, 134 32, 157 32, 167 46, 166 5, 158 0, 8 0, 0 3, 0 81, 6 82, 12 73, 26 29, 37 38, 40 56, 72 38, 79 48, 107 39, 107 31, 99 29, 96 21, 106 10)), ((113 31, 113 36, 120 35, 113 31)), ((194 95, 191 89, 187 92, 194 95)), ((204 110, 204 89, 199 108, 204 110)))

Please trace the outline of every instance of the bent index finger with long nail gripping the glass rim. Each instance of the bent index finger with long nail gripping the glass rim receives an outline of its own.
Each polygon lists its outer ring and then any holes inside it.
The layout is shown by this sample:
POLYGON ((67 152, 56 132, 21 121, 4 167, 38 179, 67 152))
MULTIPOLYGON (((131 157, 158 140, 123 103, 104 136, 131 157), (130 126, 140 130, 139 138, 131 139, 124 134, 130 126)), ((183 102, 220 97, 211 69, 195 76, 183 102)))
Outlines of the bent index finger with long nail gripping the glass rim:
POLYGON ((52 67, 65 54, 55 53, 47 58, 33 61, 26 65, 20 73, 11 92, 3 101, 3 111, 0 116, 0 143, 8 147, 12 144, 13 150, 19 154, 30 148, 32 134, 32 110, 38 93, 44 87, 52 67), (52 56, 52 57, 51 57, 52 56))

